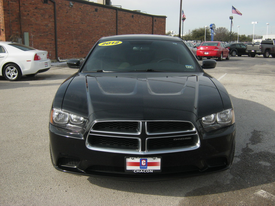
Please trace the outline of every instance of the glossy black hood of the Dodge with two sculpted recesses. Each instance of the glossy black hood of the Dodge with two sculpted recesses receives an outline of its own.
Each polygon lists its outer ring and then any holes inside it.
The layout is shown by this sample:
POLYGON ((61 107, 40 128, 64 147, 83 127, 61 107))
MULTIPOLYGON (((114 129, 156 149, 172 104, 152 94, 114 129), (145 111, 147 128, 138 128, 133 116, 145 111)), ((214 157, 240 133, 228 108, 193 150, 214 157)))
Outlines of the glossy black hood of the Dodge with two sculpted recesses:
MULTIPOLYGON (((221 92, 213 83, 218 81, 205 73, 97 72, 77 73, 71 79, 64 82, 66 89, 60 87, 66 91, 64 99, 56 98, 53 106, 86 118, 94 112, 129 109, 180 110, 203 117, 224 107, 221 92), (58 102, 62 105, 57 105, 58 102)), ((226 90, 219 87, 229 98, 226 90)))

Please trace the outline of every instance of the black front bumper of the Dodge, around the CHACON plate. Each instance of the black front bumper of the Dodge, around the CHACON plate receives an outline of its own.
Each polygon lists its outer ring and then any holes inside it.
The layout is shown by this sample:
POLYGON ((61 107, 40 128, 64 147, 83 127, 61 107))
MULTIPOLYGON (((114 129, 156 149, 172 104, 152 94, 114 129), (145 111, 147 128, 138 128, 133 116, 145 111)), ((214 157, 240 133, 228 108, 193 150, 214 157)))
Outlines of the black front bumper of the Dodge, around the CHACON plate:
POLYGON ((91 150, 85 138, 72 138, 60 134, 50 124, 50 150, 52 163, 59 171, 91 177, 158 180, 202 175, 223 171, 231 166, 235 150, 235 124, 200 133, 200 147, 194 150, 150 155, 133 155, 91 150), (125 157, 161 157, 161 172, 126 173, 125 157))

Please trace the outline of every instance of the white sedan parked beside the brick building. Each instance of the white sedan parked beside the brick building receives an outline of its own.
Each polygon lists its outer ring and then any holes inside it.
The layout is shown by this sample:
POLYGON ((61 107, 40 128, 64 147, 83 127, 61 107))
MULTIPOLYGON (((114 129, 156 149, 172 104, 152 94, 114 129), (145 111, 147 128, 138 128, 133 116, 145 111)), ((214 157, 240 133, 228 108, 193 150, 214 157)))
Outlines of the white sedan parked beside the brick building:
POLYGON ((48 52, 32 47, 0 41, 1 76, 9 81, 17 81, 22 75, 35 76, 51 68, 48 52))

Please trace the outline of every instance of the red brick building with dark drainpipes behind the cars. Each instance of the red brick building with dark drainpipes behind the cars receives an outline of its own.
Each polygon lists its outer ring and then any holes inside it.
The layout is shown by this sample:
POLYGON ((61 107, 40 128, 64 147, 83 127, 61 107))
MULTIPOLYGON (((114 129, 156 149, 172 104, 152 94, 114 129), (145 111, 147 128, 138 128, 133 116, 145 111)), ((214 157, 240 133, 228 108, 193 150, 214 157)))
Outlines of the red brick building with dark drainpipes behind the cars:
POLYGON ((0 0, 0 41, 22 41, 50 59, 85 58, 103 36, 165 35, 166 16, 85 0, 0 0))

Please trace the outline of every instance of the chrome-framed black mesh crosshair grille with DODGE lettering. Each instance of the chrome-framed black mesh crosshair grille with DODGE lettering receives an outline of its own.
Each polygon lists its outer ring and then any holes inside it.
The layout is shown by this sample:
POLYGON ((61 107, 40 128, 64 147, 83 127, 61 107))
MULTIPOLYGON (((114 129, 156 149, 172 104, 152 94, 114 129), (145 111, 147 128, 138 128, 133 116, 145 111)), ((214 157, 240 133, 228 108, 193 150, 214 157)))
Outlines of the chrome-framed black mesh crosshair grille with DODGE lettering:
POLYGON ((200 144, 195 126, 187 121, 97 121, 86 138, 91 150, 137 155, 194 150, 200 144), (151 146, 154 142, 164 146, 151 146))

